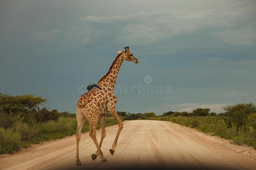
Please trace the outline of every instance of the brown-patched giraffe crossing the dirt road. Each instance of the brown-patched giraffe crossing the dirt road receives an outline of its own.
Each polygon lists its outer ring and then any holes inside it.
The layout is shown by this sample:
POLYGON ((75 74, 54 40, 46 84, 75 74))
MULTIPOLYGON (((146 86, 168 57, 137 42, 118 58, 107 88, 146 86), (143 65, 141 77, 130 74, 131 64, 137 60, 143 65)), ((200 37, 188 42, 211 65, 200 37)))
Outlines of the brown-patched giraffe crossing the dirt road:
POLYGON ((101 151, 101 145, 104 137, 106 136, 105 130, 105 115, 110 112, 115 120, 118 122, 118 131, 115 136, 112 148, 109 150, 110 154, 114 154, 115 147, 117 146, 117 140, 119 134, 123 128, 123 123, 118 117, 117 110, 115 109, 115 104, 117 103, 117 97, 113 93, 113 88, 115 86, 115 80, 117 79, 118 71, 123 63, 123 61, 133 61, 138 63, 138 59, 133 56, 130 52, 129 46, 125 47, 123 52, 118 51, 118 56, 115 58, 114 62, 109 68, 108 73, 106 73, 96 84, 92 90, 81 95, 76 106, 76 119, 77 119, 77 131, 76 131, 76 165, 81 165, 79 160, 79 142, 81 138, 81 130, 84 125, 85 118, 89 121, 90 129, 89 135, 92 138, 94 144, 96 145, 96 154, 92 154, 92 160, 95 160, 97 156, 100 156, 102 162, 106 162, 101 151), (96 128, 98 118, 101 122, 101 140, 98 144, 96 139, 96 128))

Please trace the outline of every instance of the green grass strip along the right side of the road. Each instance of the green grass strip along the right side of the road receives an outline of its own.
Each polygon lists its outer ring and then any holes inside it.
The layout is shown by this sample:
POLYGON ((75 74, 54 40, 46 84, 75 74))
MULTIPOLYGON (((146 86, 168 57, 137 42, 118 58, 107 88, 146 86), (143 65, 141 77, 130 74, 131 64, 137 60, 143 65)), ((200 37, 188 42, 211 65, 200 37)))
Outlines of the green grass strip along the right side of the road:
POLYGON ((148 117, 147 120, 160 120, 170 121, 176 124, 181 124, 197 130, 201 130, 205 133, 217 135, 221 138, 231 139, 237 145, 248 145, 256 149, 256 131, 252 126, 246 126, 238 128, 232 125, 232 128, 228 128, 225 121, 221 117, 216 116, 159 116, 148 117))

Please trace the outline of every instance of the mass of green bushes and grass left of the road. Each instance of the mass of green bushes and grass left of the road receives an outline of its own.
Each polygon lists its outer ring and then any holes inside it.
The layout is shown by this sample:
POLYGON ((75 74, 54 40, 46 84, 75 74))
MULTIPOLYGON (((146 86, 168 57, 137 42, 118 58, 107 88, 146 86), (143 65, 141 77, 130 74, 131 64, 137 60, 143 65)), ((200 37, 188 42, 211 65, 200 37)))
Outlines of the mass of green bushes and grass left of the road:
MULTIPOLYGON (((31 143, 76 133, 76 114, 39 109, 39 105, 46 101, 34 95, 10 96, 0 93, 0 154, 13 153, 31 143)), ((105 126, 114 124, 117 121, 113 117, 105 118, 105 126)), ((100 123, 97 125, 97 129, 99 128, 100 123)), ((89 122, 86 119, 82 132, 88 130, 89 122)))

